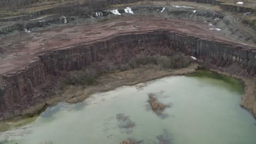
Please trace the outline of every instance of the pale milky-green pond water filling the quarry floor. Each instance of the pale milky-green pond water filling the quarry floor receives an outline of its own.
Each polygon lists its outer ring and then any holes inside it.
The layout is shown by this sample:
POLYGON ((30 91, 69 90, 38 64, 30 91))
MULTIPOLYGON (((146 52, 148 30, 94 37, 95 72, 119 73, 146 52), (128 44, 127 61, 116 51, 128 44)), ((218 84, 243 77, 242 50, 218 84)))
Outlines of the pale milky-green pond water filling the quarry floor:
POLYGON ((235 79, 200 70, 48 107, 36 121, 0 132, 0 143, 256 143, 256 121, 240 107, 235 79), (148 94, 169 105, 156 115, 148 94))

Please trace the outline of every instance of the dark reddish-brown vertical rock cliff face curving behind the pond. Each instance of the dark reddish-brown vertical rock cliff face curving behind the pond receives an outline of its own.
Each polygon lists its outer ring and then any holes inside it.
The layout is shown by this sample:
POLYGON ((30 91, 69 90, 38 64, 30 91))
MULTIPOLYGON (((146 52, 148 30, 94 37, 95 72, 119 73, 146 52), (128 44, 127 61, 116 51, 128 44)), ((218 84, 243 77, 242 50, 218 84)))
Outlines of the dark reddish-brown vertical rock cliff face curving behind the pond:
MULTIPOLYGON (((88 45, 79 44, 39 53, 25 69, 0 79, 0 111, 30 104, 39 87, 42 88, 46 82, 45 77, 50 74, 56 75, 62 70, 72 71, 83 67, 106 69, 110 63, 125 63, 139 54, 170 55, 173 51, 195 56, 205 64, 218 67, 237 63, 251 75, 256 70, 256 53, 251 47, 190 37, 167 30, 123 33, 88 45)), ((253 113, 255 115, 256 111, 253 113)))

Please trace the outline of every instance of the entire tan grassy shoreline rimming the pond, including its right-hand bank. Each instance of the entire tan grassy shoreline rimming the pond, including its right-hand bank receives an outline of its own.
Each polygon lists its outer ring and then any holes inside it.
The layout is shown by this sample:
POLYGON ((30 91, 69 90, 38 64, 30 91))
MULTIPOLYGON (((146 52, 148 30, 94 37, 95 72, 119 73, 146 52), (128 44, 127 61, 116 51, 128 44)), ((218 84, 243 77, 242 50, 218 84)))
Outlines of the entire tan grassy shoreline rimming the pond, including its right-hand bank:
MULTIPOLYGON (((79 103, 80 101, 85 100, 90 95, 95 93, 112 91, 115 88, 118 88, 121 86, 132 86, 138 83, 145 83, 148 81, 160 79, 165 76, 193 74, 199 68, 210 70, 217 74, 230 76, 237 80, 240 80, 241 84, 244 86, 244 91, 245 91, 245 94, 241 99, 240 105, 244 109, 247 109, 249 112, 251 112, 254 117, 256 116, 256 113, 255 113, 256 111, 255 110, 253 111, 253 108, 254 108, 253 104, 248 102, 248 100, 251 100, 252 97, 254 96, 255 84, 252 80, 249 80, 247 77, 231 75, 219 69, 214 69, 214 68, 208 69, 207 67, 204 67, 204 65, 191 63, 187 68, 176 69, 171 71, 159 70, 156 68, 155 65, 147 65, 146 67, 135 68, 134 70, 107 73, 98 78, 97 80, 98 83, 95 86, 90 86, 87 88, 83 86, 69 86, 67 89, 65 89, 65 91, 57 93, 48 99, 40 100, 40 102, 37 103, 36 105, 26 107, 26 109, 20 111, 19 116, 8 115, 8 117, 10 118, 3 118, 0 122, 2 123, 7 121, 17 122, 20 119, 37 117, 39 116, 40 113, 42 113, 46 109, 46 107, 56 105, 61 101, 65 101, 67 103, 79 103), (142 77, 141 79, 137 79, 138 76, 142 76, 142 75, 144 77, 142 77), (122 78, 120 79, 120 77, 122 78), (111 82, 106 83, 106 81, 108 80, 110 80, 111 82), (76 93, 74 93, 74 91, 76 91, 76 93)), ((0 131, 3 131, 3 129, 0 131)))

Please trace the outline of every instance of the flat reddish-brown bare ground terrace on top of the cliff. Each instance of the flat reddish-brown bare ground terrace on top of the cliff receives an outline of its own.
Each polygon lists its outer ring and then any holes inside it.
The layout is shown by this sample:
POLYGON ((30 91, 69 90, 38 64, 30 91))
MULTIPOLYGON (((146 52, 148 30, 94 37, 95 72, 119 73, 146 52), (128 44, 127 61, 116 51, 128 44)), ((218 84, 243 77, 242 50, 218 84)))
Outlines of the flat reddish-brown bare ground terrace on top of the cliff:
MULTIPOLYGON (((96 25, 77 27, 61 27, 48 29, 48 31, 32 32, 0 40, 0 47, 4 49, 3 58, 0 59, 0 74, 15 73, 26 67, 36 58, 37 53, 53 49, 67 49, 73 45, 95 43, 120 33, 138 33, 156 29, 170 29, 172 32, 193 35, 199 38, 214 40, 216 42, 235 41, 220 37, 217 31, 209 30, 205 23, 166 20, 160 17, 117 17, 115 20, 100 22, 96 25)), ((245 47, 245 45, 241 45, 245 47)), ((255 49, 256 47, 251 47, 255 49)))

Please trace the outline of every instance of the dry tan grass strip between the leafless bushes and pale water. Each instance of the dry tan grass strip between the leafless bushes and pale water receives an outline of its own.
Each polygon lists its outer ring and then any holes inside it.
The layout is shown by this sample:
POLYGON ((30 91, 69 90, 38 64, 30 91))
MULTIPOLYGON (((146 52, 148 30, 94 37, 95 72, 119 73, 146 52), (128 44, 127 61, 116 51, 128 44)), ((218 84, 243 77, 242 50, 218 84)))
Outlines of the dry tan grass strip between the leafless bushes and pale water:
POLYGON ((191 63, 189 67, 176 70, 161 70, 156 65, 144 65, 139 68, 127 71, 106 73, 97 78, 95 86, 67 86, 65 90, 56 92, 53 97, 41 101, 41 103, 28 107, 22 111, 22 115, 36 113, 43 109, 45 105, 55 105, 59 101, 67 103, 78 103, 97 92, 107 92, 120 86, 131 86, 137 83, 147 82, 170 75, 185 75, 194 73, 199 67, 196 63, 191 63))

